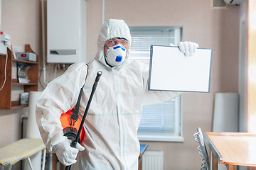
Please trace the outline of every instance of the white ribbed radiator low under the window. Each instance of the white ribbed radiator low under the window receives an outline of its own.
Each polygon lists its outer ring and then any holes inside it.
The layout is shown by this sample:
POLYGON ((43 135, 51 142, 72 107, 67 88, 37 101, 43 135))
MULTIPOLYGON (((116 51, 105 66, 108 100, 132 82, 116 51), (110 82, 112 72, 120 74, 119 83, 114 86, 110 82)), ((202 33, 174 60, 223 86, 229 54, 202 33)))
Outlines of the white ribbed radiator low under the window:
POLYGON ((142 170, 164 170, 164 152, 145 151, 142 155, 142 170))

